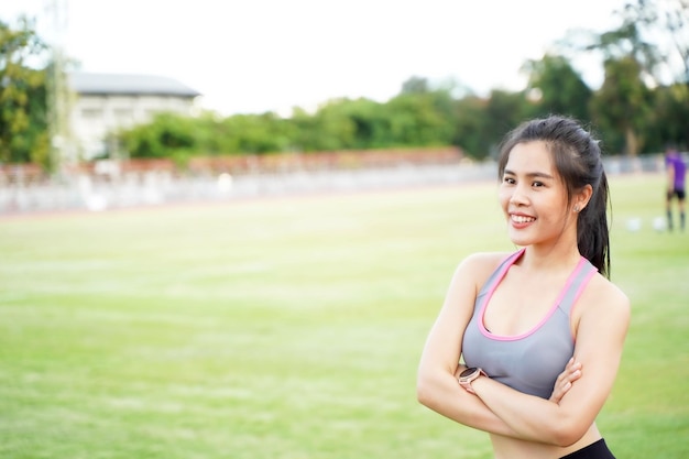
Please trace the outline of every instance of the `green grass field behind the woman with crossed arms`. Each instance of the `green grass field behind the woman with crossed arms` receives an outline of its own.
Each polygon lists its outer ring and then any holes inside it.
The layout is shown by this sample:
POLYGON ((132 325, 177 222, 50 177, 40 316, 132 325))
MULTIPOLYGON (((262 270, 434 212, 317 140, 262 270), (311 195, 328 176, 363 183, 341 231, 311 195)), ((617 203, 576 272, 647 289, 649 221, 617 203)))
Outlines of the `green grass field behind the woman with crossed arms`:
MULTIPOLYGON (((687 458, 689 232, 650 228, 661 176, 611 186, 633 317, 599 427, 687 458)), ((416 365, 457 263, 512 249, 494 184, 0 218, 0 458, 490 458, 416 365)))

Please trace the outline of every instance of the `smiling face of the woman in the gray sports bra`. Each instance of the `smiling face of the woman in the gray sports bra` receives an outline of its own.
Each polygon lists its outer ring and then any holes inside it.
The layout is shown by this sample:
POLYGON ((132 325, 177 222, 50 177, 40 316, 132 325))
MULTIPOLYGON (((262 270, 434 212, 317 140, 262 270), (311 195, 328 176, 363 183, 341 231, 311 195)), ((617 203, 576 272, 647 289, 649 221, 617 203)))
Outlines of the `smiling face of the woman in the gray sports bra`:
POLYGON ((567 189, 543 141, 516 144, 500 185, 500 205, 513 243, 531 245, 559 240, 576 218, 569 215, 567 189))

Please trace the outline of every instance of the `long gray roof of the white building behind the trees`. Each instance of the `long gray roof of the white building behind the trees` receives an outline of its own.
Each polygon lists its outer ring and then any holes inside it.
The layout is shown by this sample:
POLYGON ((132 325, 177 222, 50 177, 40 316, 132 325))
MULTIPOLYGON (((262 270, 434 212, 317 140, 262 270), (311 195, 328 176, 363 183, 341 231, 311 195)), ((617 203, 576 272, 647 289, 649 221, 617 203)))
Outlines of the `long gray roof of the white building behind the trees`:
POLYGON ((74 72, 67 78, 69 87, 77 94, 103 96, 200 96, 200 92, 176 79, 155 75, 74 72))

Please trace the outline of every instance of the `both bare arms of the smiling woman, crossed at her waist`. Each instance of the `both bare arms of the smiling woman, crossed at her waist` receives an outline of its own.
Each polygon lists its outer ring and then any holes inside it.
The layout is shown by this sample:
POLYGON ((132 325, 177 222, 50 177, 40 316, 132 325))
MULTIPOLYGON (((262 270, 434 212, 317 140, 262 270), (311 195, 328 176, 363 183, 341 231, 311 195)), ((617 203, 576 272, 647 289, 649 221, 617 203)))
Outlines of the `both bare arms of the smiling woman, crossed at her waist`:
POLYGON ((521 393, 490 378, 477 379, 472 383, 475 394, 470 394, 458 384, 456 374, 480 265, 469 260, 452 278, 419 363, 419 402, 488 433, 557 446, 573 444, 594 422, 612 389, 628 323, 626 297, 608 286, 593 289, 591 295, 604 307, 598 308, 597 315, 582 315, 576 357, 558 378, 550 400, 521 393))

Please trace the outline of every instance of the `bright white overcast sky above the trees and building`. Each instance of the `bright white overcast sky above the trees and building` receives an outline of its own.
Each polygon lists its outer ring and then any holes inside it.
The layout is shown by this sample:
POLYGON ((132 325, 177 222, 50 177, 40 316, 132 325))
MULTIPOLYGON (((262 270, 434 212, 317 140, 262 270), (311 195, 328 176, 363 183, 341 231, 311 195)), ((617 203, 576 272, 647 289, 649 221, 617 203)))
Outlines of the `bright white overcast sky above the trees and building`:
MULTIPOLYGON (((386 101, 416 76, 486 95, 568 30, 615 28, 624 0, 0 0, 84 72, 171 77, 221 114, 386 101), (62 6, 62 9, 55 9, 62 6), (59 11, 55 14, 55 11, 59 11), (59 26, 55 26, 59 24, 59 26)), ((575 62, 600 86, 598 62, 575 62)))

